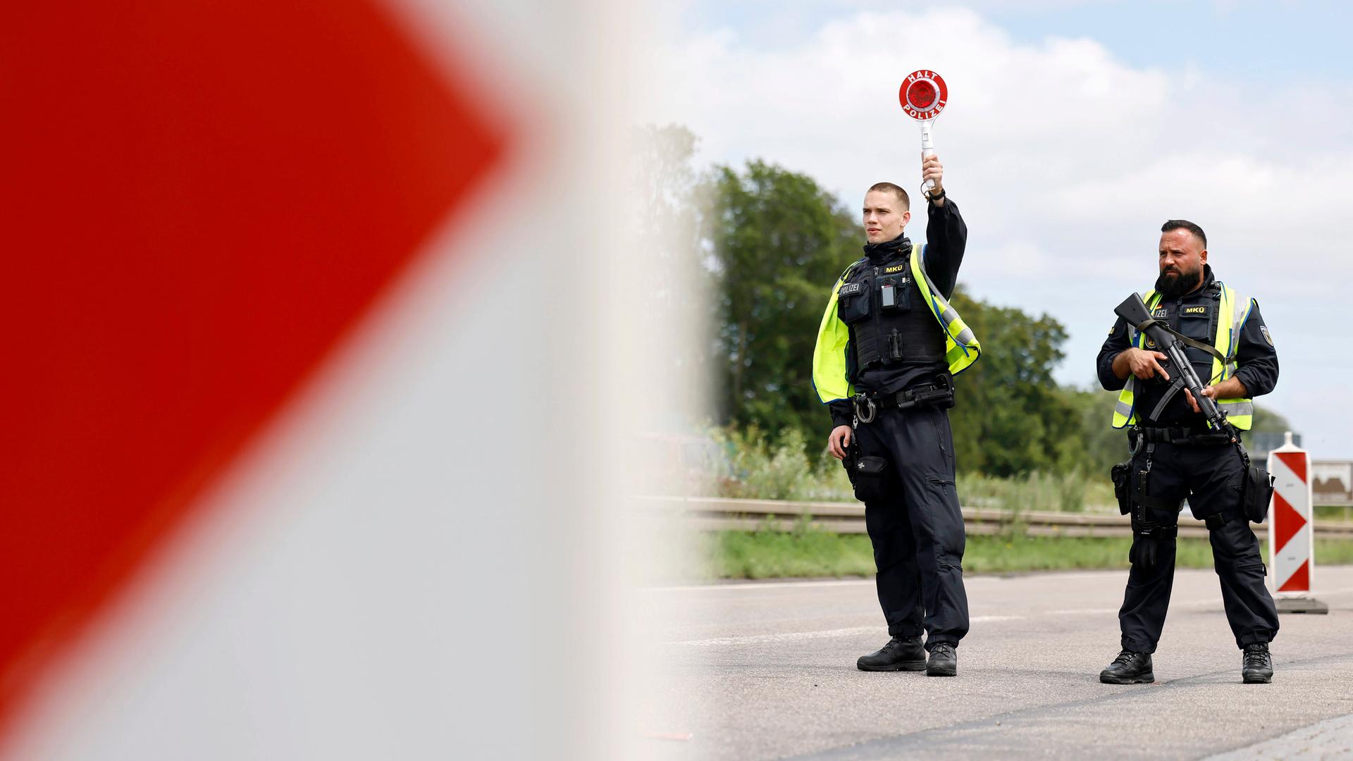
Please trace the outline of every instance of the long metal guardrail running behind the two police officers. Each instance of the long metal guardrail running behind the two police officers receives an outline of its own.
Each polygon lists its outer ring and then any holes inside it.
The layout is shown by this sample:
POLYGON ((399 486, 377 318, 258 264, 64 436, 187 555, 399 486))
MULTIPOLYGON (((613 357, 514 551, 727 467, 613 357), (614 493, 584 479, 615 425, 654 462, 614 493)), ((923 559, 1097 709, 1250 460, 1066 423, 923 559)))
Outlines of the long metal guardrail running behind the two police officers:
MULTIPOLYGON (((700 531, 751 531, 770 524, 792 529, 802 516, 823 531, 865 534, 865 505, 861 502, 786 502, 779 500, 729 500, 721 497, 637 497, 641 508, 658 515, 679 517, 700 531)), ((1131 536, 1127 516, 1103 513, 1020 512, 990 508, 962 508, 963 527, 969 534, 1000 534, 1015 523, 1031 536, 1131 536)), ((1261 524, 1258 534, 1268 534, 1261 524)), ((1252 524, 1252 528, 1254 525, 1252 524)), ((1180 536, 1207 536, 1207 527, 1192 513, 1180 513, 1180 536)), ((1316 523, 1319 539, 1353 539, 1350 523, 1316 523)))

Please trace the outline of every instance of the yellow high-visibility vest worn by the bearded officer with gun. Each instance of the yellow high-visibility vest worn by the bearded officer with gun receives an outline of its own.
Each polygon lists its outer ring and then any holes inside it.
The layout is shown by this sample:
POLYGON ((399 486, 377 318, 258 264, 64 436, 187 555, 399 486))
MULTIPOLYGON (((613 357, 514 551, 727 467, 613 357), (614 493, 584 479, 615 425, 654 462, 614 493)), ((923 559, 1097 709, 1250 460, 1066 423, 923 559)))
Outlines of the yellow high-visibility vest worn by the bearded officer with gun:
MULTIPOLYGON (((1250 316, 1253 302, 1249 297, 1237 294, 1220 282, 1214 283, 1210 288, 1212 292, 1208 295, 1212 303, 1180 306, 1178 332, 1199 341, 1211 340, 1212 347, 1226 357, 1226 362, 1222 362, 1201 349, 1192 347, 1184 349, 1197 376, 1208 378, 1207 385, 1212 386, 1235 375, 1235 352, 1239 351, 1241 329, 1250 316)), ((1142 294, 1142 301, 1146 302, 1153 317, 1165 316, 1164 307, 1160 306, 1161 294, 1146 291, 1142 294)), ((1139 349, 1158 351, 1154 341, 1131 325, 1128 326, 1128 340, 1139 349)), ((1123 428, 1138 421, 1135 389, 1137 376, 1128 375, 1127 385, 1123 386, 1123 391, 1118 395, 1118 404, 1114 406, 1114 428, 1123 428)), ((1249 431, 1254 424, 1254 399, 1252 398, 1218 399, 1216 406, 1222 408, 1226 420, 1241 431, 1249 431)))

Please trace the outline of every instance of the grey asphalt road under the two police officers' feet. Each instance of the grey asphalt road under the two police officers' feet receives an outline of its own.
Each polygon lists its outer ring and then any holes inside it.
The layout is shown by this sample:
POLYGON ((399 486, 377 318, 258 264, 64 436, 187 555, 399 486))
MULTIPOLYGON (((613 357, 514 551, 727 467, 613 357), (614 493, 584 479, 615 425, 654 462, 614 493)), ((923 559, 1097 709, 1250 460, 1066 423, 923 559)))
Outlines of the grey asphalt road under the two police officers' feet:
POLYGON ((1127 571, 970 575, 957 678, 866 673, 873 580, 639 593, 651 758, 1353 757, 1353 566, 1316 569, 1329 615, 1284 613, 1273 684, 1241 682, 1216 575, 1177 571, 1154 685, 1097 674, 1127 571))

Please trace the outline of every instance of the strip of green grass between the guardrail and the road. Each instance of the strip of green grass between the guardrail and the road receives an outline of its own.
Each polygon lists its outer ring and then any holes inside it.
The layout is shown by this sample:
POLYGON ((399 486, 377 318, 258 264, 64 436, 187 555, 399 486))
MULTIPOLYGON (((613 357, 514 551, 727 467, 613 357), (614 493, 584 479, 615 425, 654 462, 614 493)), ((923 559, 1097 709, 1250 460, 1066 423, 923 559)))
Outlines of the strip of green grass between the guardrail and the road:
MULTIPOLYGON (((1132 540, 1050 536, 969 536, 967 573, 1126 569, 1132 540)), ((1262 542, 1264 558, 1268 543, 1262 542)), ((874 551, 863 534, 831 534, 801 524, 794 531, 713 531, 701 538, 698 578, 801 578, 871 575, 874 551)), ((1315 542, 1322 565, 1353 563, 1353 540, 1315 542)), ((1206 539, 1180 539, 1178 567, 1212 567, 1206 539)))

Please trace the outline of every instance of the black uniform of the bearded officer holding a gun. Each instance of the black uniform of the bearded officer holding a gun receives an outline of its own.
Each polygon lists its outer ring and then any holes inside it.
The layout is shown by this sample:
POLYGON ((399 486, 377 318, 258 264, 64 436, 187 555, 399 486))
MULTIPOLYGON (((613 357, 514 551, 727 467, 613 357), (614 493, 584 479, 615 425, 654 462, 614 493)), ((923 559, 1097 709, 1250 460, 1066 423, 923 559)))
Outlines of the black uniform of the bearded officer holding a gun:
MULTIPOLYGON (((1216 321, 1231 320, 1229 314, 1218 314, 1219 298, 1220 286, 1212 276, 1212 268, 1204 265, 1203 286, 1180 298, 1162 299, 1157 314, 1164 310, 1170 328, 1211 345, 1216 321)), ((1119 318, 1104 341, 1097 362, 1100 383, 1111 391, 1126 385, 1126 379, 1114 374, 1114 359, 1130 345, 1127 322, 1119 318)), ((1143 348, 1151 351, 1149 345, 1143 348)), ((1211 355, 1193 347, 1185 352, 1199 378, 1206 382, 1212 376, 1211 355)), ((1245 385, 1249 397, 1266 394, 1277 383, 1277 352, 1257 303, 1242 325, 1237 366, 1235 378, 1245 385)), ((1168 360, 1161 360, 1161 367, 1174 378, 1168 360)), ((1277 611, 1264 585, 1265 567, 1258 539, 1242 513, 1245 467, 1239 454, 1234 444, 1207 428, 1203 416, 1189 408, 1183 391, 1170 399, 1157 420, 1149 418, 1168 386, 1169 382, 1160 376, 1134 383, 1138 425, 1143 429, 1145 441, 1131 460, 1131 487, 1135 489, 1139 474, 1146 470, 1146 494, 1151 498, 1151 506, 1145 508, 1141 517, 1158 523, 1161 529, 1158 539, 1134 539, 1132 567, 1127 577, 1123 608, 1118 615, 1123 650, 1154 653, 1160 642, 1174 581, 1178 502, 1184 498, 1188 498, 1195 517, 1208 523, 1226 620, 1231 624, 1237 646, 1243 649, 1246 645, 1270 642, 1277 634, 1277 611), (1151 443, 1153 439, 1157 441, 1151 443), (1165 506, 1158 501, 1174 506, 1165 506), (1145 542, 1154 542, 1154 547, 1145 547, 1145 542), (1149 552, 1154 552, 1153 563, 1145 559, 1149 552)), ((1139 523, 1142 521, 1134 515, 1134 524, 1139 523)))

